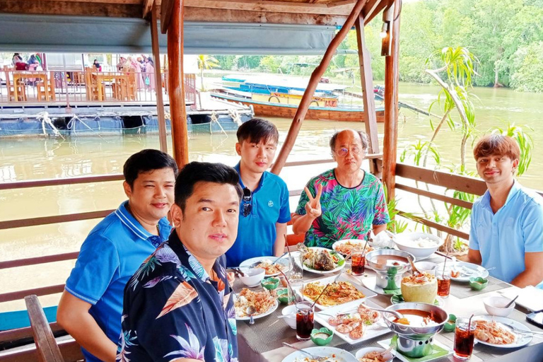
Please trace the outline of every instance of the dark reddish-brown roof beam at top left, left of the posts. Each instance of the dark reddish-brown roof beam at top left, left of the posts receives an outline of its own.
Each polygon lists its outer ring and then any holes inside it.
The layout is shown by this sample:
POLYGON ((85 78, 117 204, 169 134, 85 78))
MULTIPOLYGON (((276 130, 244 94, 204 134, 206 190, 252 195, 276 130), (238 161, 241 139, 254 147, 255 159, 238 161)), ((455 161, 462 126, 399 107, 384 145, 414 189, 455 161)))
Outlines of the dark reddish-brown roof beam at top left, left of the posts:
POLYGON ((79 3, 73 1, 0 0, 0 13, 141 18, 141 5, 79 3))

